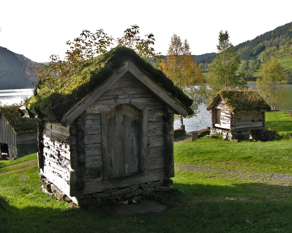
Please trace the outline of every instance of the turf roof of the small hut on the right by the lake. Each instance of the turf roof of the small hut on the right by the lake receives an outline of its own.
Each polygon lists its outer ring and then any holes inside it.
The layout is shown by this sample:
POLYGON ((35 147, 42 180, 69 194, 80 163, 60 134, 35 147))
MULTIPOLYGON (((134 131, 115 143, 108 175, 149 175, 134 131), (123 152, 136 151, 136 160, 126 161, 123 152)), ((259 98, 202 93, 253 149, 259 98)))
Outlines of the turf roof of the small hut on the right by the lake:
POLYGON ((271 110, 270 106, 259 95, 259 93, 251 90, 219 91, 217 95, 213 97, 211 103, 207 107, 207 110, 211 110, 214 107, 219 96, 230 108, 231 112, 271 110))

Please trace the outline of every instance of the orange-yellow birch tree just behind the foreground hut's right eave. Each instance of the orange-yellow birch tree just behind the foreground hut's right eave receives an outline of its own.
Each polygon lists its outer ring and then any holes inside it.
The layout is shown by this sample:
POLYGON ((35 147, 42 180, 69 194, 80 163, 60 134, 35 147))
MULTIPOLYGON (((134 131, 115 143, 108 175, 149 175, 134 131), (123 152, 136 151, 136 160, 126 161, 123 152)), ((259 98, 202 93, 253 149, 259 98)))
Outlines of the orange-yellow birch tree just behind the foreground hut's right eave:
MULTIPOLYGON (((191 108, 196 114, 199 104, 205 101, 206 88, 203 84, 203 75, 191 55, 187 40, 182 42, 179 36, 173 34, 166 59, 161 62, 160 66, 173 83, 194 100, 191 108)), ((176 117, 180 118, 183 127, 183 116, 176 117)))

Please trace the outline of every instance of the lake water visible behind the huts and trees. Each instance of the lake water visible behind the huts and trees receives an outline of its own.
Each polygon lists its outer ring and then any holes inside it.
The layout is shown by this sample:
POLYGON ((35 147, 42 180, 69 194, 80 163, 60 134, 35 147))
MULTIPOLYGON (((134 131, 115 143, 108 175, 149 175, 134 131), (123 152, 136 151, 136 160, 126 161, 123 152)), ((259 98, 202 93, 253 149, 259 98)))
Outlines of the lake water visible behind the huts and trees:
MULTIPOLYGON (((256 84, 249 84, 252 90, 256 89, 256 84)), ((282 110, 292 110, 292 84, 285 86, 288 91, 287 99, 277 107, 282 110)), ((0 105, 20 104, 27 97, 32 96, 33 89, 0 90, 0 105)), ((185 130, 191 132, 211 127, 211 112, 206 110, 206 105, 199 106, 199 113, 190 119, 184 119, 185 130)), ((180 120, 175 120, 174 128, 180 128, 180 120)))

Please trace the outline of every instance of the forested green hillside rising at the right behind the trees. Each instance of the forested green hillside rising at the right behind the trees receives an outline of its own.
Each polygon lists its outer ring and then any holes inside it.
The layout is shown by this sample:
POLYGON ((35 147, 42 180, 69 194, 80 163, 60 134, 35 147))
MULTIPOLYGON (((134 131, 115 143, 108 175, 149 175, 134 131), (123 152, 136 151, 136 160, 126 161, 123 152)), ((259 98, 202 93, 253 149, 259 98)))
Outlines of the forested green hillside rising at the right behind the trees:
MULTIPOLYGON (((255 81, 262 63, 274 56, 284 69, 286 81, 292 82, 292 22, 240 43, 234 50, 241 59, 240 71, 245 73, 249 81, 255 81)), ((205 75, 214 57, 197 61, 205 75)))

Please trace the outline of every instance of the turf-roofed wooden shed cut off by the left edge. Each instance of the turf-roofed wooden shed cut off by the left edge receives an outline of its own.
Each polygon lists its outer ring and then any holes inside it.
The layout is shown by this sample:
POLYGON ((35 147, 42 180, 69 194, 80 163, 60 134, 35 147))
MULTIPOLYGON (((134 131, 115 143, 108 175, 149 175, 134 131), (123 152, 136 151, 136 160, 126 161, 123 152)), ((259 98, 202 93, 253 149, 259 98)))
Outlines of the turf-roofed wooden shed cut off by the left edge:
POLYGON ((37 121, 21 117, 19 107, 0 107, 0 153, 10 159, 37 152, 37 121))

